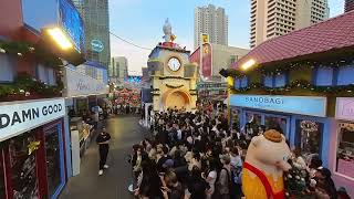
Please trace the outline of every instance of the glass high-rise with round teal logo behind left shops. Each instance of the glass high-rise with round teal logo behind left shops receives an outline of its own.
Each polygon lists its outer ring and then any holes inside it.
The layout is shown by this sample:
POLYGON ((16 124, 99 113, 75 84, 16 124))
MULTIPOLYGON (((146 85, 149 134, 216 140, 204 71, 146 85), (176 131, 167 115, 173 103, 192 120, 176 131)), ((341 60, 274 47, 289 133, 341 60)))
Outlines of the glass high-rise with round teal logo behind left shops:
POLYGON ((86 59, 110 65, 108 0, 73 0, 85 24, 86 59))

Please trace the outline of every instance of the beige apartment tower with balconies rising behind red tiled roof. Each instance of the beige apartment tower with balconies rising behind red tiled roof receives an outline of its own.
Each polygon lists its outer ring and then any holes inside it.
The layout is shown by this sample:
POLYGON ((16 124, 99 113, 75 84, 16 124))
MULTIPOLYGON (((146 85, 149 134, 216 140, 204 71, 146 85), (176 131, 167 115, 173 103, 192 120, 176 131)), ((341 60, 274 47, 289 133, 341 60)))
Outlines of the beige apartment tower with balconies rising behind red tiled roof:
POLYGON ((250 46, 324 21, 329 15, 327 0, 251 0, 250 46))

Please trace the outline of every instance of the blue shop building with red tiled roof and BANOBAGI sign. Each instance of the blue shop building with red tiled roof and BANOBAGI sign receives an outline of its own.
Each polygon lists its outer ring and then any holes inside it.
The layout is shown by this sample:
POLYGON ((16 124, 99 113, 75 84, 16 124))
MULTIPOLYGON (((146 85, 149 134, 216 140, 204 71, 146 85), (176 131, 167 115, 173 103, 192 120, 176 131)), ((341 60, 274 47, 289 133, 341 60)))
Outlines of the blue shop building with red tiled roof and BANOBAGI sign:
POLYGON ((354 191, 354 12, 263 42, 232 65, 231 121, 244 134, 277 129, 317 154, 336 188, 354 191), (281 53, 280 53, 281 52, 281 53), (252 65, 246 67, 246 63, 252 65), (247 70, 248 69, 248 70, 247 70), (239 72, 239 73, 237 73, 239 72))

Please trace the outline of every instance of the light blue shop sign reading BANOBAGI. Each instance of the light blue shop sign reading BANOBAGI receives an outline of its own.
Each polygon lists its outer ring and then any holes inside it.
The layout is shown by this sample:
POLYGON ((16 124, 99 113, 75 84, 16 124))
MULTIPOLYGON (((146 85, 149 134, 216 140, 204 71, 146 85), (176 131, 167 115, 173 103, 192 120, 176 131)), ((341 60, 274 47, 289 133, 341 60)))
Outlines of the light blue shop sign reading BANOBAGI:
POLYGON ((319 117, 326 114, 325 97, 231 95, 230 105, 319 117))

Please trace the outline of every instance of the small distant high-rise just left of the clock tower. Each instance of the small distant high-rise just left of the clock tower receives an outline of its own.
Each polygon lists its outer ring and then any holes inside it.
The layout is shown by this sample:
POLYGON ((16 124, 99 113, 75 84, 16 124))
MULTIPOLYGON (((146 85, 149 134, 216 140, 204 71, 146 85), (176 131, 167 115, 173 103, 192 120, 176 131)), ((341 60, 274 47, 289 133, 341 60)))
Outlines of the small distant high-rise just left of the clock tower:
POLYGON ((125 56, 112 57, 108 75, 111 80, 123 82, 128 76, 128 61, 125 56))

